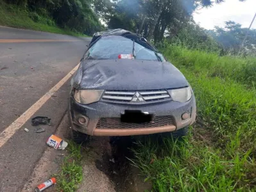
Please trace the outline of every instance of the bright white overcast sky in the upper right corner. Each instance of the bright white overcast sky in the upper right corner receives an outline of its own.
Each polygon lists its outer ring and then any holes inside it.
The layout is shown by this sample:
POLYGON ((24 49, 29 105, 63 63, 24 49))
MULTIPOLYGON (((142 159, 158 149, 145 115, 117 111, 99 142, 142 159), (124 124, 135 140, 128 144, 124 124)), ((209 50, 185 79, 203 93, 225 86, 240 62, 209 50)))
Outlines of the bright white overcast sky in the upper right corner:
MULTIPOLYGON (((248 28, 256 13, 256 0, 226 0, 221 4, 214 4, 210 8, 202 8, 193 13, 194 20, 205 29, 213 29, 214 26, 225 26, 225 21, 233 20, 248 28)), ((256 29, 256 19, 252 25, 256 29)))

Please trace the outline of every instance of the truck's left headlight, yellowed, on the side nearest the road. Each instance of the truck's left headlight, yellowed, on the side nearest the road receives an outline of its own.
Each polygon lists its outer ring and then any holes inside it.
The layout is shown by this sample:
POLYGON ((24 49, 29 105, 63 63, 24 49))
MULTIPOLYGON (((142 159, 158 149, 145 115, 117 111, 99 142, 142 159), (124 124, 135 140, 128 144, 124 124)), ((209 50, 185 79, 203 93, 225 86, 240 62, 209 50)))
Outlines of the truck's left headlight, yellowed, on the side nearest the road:
POLYGON ((74 99, 80 104, 90 104, 101 99, 104 90, 75 90, 74 99))

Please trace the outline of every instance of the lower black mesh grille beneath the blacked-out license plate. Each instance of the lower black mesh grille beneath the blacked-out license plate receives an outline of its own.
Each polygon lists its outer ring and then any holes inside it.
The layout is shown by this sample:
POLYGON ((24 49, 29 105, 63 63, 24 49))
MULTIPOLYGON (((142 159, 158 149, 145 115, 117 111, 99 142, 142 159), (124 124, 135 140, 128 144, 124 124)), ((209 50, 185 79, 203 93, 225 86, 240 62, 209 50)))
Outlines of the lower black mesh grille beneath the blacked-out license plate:
POLYGON ((133 129, 146 127, 164 127, 173 125, 172 116, 156 116, 154 122, 135 124, 121 122, 120 118, 101 118, 96 126, 98 129, 133 129))

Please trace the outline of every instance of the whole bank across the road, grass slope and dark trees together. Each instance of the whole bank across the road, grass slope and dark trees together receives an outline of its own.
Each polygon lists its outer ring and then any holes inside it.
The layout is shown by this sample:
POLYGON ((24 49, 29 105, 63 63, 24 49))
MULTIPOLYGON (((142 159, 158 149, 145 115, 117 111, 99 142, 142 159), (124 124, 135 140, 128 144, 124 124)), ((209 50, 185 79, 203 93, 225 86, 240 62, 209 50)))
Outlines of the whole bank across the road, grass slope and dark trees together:
POLYGON ((103 29, 87 1, 0 0, 0 25, 73 36, 103 29))

